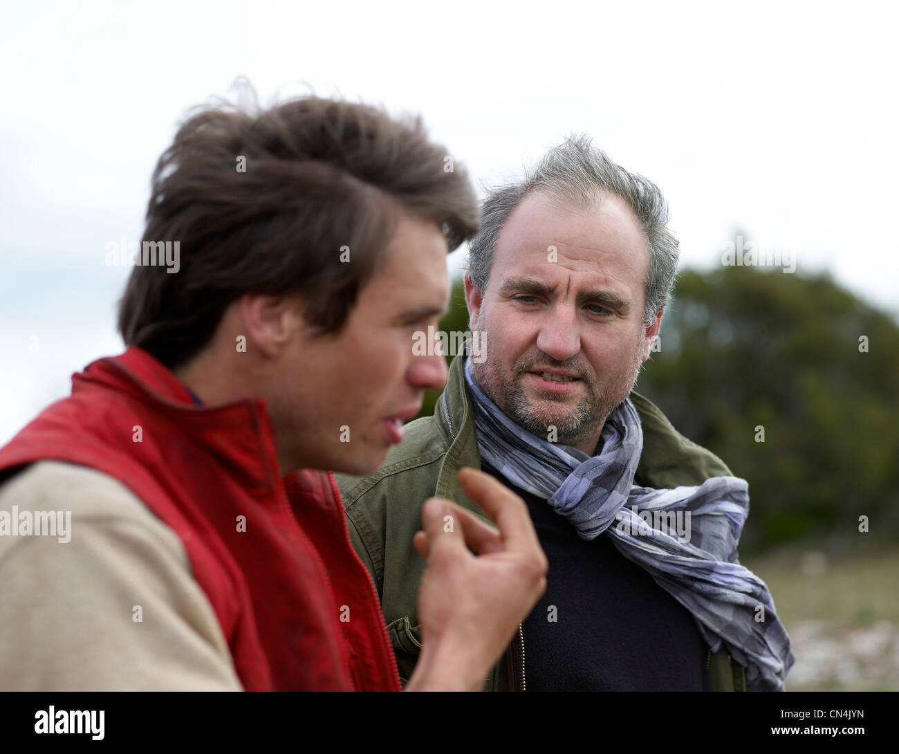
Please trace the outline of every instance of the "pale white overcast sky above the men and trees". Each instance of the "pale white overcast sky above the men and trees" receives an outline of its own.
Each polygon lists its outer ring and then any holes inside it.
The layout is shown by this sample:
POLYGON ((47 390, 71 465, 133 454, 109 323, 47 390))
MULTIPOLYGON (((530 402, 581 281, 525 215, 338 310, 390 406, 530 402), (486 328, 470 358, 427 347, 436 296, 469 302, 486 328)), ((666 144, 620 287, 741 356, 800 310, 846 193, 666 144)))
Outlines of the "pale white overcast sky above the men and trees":
POLYGON ((311 88, 421 112, 485 184, 585 131, 662 187, 683 264, 716 264, 738 226, 899 314, 896 21, 784 0, 4 9, 0 443, 120 352, 128 269, 105 244, 141 237, 176 122, 239 75, 263 102, 311 88))

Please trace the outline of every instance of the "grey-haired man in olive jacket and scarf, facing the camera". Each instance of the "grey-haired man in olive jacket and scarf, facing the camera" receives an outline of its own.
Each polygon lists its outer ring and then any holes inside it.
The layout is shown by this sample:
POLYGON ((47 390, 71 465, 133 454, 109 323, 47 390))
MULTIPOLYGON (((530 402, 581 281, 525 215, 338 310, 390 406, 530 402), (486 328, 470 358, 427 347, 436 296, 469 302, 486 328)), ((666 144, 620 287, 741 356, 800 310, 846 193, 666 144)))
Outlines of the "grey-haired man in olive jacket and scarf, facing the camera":
POLYGON ((747 486, 632 392, 677 267, 657 187, 568 139, 491 193, 465 279, 479 357, 363 480, 341 477, 401 673, 419 649, 408 544, 424 498, 476 510, 480 466, 525 498, 547 592, 486 689, 780 689, 793 658, 736 545, 747 486), (527 650, 527 651, 525 651, 527 650))

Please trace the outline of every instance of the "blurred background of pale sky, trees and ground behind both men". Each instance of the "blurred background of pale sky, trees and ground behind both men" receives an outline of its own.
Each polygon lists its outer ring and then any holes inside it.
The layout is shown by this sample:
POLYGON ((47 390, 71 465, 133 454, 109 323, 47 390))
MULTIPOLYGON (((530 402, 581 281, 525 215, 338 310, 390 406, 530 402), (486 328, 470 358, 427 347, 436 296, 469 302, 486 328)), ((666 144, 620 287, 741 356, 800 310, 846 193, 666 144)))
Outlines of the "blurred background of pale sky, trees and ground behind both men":
MULTIPOLYGON (((681 274, 637 390, 749 480, 741 560, 793 638, 788 688, 899 690, 895 6, 3 13, 0 444, 122 349, 129 269, 106 245, 141 238, 156 159, 237 76, 262 103, 315 92, 420 112, 482 193, 583 131, 671 203, 681 274), (795 271, 722 264, 750 241, 795 271)), ((449 256, 457 280, 465 253, 449 256)), ((465 330, 458 285, 454 302, 441 327, 465 330)))

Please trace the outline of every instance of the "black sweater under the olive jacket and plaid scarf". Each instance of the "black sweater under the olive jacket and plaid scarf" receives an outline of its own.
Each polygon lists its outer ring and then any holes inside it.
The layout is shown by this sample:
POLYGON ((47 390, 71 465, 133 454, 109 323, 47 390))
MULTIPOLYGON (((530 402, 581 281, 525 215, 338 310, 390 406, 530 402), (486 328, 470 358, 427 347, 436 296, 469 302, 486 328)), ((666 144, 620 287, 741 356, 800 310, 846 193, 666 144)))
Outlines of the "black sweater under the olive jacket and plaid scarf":
POLYGON ((686 607, 609 534, 584 541, 545 499, 484 471, 527 502, 549 561, 522 629, 528 691, 708 691, 708 645, 686 607))

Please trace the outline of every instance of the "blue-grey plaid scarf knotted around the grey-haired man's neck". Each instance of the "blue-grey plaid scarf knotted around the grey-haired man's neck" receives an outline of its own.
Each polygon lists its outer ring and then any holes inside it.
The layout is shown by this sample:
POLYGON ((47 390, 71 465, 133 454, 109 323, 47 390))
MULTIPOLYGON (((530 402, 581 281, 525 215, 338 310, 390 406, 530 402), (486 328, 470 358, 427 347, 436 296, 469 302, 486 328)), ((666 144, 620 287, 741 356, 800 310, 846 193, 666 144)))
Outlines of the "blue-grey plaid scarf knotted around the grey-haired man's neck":
POLYGON ((592 540, 602 533, 690 613, 713 652, 725 645, 746 669, 750 691, 782 691, 796 658, 768 587, 737 561, 749 513, 749 485, 712 477, 699 487, 634 486, 643 429, 626 399, 606 419, 593 457, 550 443, 515 424, 471 373, 481 457, 515 487, 526 489, 592 540))

